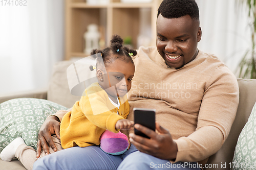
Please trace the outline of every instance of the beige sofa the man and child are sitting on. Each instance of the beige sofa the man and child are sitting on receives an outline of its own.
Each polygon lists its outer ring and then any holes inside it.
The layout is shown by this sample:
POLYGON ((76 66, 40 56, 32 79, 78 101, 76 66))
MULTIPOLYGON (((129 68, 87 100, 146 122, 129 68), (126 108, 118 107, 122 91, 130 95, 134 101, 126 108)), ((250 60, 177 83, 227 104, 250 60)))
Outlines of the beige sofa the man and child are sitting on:
MULTIPOLYGON (((0 103, 14 98, 38 98, 46 99, 60 105, 71 108, 79 96, 74 96, 69 91, 67 81, 67 68, 73 61, 61 61, 54 65, 53 74, 47 89, 14 93, 0 96, 0 103)), ((211 167, 206 169, 229 169, 229 163, 232 162, 234 150, 237 144, 239 134, 245 126, 252 107, 256 102, 256 79, 238 79, 240 102, 237 110, 236 119, 231 127, 231 131, 222 148, 214 155, 209 157, 207 164, 216 165, 218 168, 211 167), (221 164, 226 163, 226 168, 221 164)), ((5 162, 0 159, 0 169, 4 170, 22 170, 26 169, 17 159, 11 162, 5 162)))

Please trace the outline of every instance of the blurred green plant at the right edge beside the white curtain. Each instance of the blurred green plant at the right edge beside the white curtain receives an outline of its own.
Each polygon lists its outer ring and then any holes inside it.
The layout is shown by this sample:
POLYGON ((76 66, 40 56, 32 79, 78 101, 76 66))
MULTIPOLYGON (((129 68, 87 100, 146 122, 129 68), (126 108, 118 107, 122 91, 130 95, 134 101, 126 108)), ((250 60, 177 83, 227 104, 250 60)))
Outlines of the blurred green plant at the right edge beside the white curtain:
POLYGON ((251 28, 251 47, 246 51, 239 63, 239 77, 246 79, 256 79, 256 0, 238 0, 242 5, 246 5, 248 10, 249 27, 251 28))

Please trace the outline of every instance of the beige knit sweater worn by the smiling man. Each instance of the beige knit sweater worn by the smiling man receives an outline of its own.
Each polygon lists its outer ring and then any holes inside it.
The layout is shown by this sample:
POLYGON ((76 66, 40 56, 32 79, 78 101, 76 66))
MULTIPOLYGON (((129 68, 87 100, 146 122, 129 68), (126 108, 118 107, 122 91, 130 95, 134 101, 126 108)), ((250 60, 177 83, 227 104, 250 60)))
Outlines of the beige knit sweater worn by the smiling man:
POLYGON ((236 116, 236 77, 216 56, 201 51, 179 70, 167 68, 156 47, 140 47, 134 62, 130 110, 156 109, 156 120, 178 145, 175 162, 206 163, 221 148, 236 116))

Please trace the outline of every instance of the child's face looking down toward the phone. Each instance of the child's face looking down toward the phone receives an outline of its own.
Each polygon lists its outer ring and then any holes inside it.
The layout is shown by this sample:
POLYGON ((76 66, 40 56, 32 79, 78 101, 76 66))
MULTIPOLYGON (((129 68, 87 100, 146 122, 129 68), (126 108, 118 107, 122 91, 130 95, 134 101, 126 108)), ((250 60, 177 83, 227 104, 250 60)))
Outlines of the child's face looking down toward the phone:
POLYGON ((101 87, 109 95, 124 96, 132 87, 132 78, 134 77, 135 66, 132 62, 116 59, 105 67, 107 74, 103 75, 101 87))

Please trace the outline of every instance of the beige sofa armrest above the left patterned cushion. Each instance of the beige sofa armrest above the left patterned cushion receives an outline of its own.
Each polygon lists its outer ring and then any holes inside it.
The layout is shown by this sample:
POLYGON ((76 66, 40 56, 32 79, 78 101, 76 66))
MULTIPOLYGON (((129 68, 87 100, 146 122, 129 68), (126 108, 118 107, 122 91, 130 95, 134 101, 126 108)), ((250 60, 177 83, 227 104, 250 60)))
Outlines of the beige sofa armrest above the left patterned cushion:
POLYGON ((15 92, 6 95, 0 95, 0 103, 15 99, 15 98, 37 98, 47 99, 47 89, 37 89, 23 92, 15 92))

